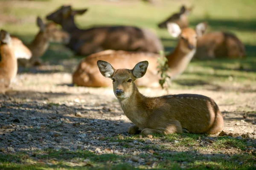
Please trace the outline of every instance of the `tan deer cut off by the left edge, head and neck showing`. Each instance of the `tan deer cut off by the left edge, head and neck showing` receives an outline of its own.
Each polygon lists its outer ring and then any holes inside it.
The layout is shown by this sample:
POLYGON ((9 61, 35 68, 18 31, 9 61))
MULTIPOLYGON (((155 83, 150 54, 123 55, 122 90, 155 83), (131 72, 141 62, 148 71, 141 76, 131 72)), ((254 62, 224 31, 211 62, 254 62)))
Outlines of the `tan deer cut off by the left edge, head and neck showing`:
POLYGON ((0 93, 4 93, 17 75, 17 58, 12 51, 12 38, 4 30, 0 31, 0 93))

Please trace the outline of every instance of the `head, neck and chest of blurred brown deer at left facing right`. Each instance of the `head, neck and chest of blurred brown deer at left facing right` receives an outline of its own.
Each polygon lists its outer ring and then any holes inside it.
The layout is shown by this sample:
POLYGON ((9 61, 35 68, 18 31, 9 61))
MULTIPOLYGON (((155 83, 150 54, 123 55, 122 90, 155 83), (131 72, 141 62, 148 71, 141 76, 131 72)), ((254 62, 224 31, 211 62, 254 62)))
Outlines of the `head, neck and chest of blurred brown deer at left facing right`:
POLYGON ((67 44, 70 36, 67 32, 57 28, 55 23, 44 24, 40 17, 37 17, 37 26, 39 28, 34 40, 28 44, 28 48, 32 51, 30 59, 19 59, 19 64, 29 67, 32 65, 41 64, 40 57, 47 51, 49 42, 62 42, 67 44))

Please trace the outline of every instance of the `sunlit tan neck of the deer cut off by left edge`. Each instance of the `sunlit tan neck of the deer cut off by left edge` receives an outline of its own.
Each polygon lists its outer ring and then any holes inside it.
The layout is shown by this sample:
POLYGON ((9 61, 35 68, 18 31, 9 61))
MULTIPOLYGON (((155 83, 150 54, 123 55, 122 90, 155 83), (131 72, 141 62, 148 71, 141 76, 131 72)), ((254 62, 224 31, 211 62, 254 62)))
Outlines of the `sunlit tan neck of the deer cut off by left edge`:
POLYGON ((17 59, 9 45, 1 45, 0 54, 0 74, 5 74, 6 78, 12 81, 17 74, 17 59))

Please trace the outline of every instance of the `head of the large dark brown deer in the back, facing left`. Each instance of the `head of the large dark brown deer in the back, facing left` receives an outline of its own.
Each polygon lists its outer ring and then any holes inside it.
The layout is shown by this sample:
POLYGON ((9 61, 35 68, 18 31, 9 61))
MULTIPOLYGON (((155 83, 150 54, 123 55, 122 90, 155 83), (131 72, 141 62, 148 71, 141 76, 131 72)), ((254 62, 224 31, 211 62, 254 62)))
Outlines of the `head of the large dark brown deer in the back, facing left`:
POLYGON ((51 20, 57 24, 63 24, 66 20, 73 18, 76 14, 84 14, 87 8, 81 10, 73 10, 71 6, 61 6, 56 11, 47 15, 47 20, 51 20))

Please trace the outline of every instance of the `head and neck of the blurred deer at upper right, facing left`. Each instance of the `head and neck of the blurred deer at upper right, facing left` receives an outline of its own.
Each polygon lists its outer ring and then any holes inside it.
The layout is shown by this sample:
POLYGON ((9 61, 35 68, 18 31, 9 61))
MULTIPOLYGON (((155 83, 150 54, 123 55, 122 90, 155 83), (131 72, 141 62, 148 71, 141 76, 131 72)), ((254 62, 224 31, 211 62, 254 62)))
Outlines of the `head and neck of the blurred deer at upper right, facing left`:
POLYGON ((159 23, 157 26, 159 28, 167 28, 167 23, 177 23, 180 28, 186 28, 189 26, 189 19, 188 16, 190 12, 192 11, 193 6, 190 8, 187 8, 186 6, 180 7, 180 12, 172 14, 170 17, 168 17, 163 22, 159 23))

